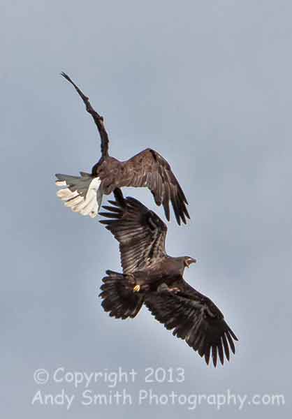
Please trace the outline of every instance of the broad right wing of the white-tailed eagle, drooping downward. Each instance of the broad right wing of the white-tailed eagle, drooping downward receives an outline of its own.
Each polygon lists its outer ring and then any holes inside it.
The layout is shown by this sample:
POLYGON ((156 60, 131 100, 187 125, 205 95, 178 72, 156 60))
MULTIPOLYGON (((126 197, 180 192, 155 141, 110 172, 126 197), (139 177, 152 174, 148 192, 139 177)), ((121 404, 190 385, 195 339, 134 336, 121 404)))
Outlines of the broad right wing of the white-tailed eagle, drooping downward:
MULTIPOLYGON (((103 173, 98 174, 101 179, 110 178, 112 166, 103 165, 103 173)), ((152 149, 145 149, 131 159, 122 162, 112 179, 110 191, 123 186, 145 186, 152 191, 156 205, 163 205, 166 219, 170 220, 169 202, 173 206, 175 218, 180 224, 182 220, 187 223, 189 212, 187 199, 177 182, 170 165, 163 157, 152 149)), ((108 185, 107 185, 108 187, 108 185)), ((110 191, 108 193, 110 193, 110 191)))

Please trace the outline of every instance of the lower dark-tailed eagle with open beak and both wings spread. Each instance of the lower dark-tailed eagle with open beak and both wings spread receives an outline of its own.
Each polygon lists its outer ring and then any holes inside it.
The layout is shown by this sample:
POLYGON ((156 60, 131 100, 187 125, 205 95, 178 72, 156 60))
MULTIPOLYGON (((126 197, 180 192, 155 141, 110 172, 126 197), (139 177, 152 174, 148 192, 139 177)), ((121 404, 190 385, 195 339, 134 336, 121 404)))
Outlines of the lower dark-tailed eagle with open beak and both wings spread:
POLYGON ((210 356, 214 367, 217 358, 235 353, 233 340, 238 340, 224 321, 218 307, 198 293, 183 279, 184 268, 196 260, 189 256, 173 258, 166 253, 166 224, 134 198, 117 194, 112 206, 101 212, 105 224, 119 242, 123 274, 106 271, 100 296, 102 306, 115 318, 133 318, 145 306, 160 323, 173 330, 191 348, 210 356))

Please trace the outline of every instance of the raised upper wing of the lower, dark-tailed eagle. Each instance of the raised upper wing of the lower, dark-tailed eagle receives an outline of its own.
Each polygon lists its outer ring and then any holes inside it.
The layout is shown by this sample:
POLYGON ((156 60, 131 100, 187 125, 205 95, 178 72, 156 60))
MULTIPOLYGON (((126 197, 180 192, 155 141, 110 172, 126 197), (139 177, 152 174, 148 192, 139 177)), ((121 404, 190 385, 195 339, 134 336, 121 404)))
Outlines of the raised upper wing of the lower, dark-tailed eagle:
POLYGON ((166 224, 138 200, 120 198, 104 205, 108 212, 100 212, 108 220, 101 220, 119 242, 124 274, 141 270, 166 256, 166 224))

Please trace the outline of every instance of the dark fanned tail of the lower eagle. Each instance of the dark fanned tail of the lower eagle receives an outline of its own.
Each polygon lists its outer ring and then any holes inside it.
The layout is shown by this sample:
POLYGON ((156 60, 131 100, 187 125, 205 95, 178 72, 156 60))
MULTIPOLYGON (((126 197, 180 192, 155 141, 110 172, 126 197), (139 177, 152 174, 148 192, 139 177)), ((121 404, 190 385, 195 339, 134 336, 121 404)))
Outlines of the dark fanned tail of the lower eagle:
POLYGON ((133 285, 125 275, 106 271, 108 277, 103 278, 101 293, 103 298, 101 305, 104 311, 108 311, 111 317, 128 318, 135 317, 143 305, 143 296, 133 293, 133 285))

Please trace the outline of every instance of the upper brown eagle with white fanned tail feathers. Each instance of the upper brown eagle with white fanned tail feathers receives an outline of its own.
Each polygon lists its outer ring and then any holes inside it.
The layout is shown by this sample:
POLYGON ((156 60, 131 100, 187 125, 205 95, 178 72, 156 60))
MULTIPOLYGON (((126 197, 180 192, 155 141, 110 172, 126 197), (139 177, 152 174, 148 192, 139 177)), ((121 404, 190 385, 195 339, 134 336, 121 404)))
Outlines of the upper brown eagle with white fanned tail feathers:
POLYGON ((56 175, 57 186, 66 186, 57 192, 66 207, 79 214, 94 217, 98 214, 103 194, 115 193, 123 186, 141 186, 150 189, 156 205, 163 205, 168 221, 171 202, 177 223, 180 224, 181 220, 186 223, 186 218, 189 218, 187 199, 166 159, 149 148, 126 161, 111 157, 108 154, 109 140, 103 117, 92 108, 89 98, 71 78, 65 73, 61 75, 78 91, 101 136, 101 159, 93 166, 91 173, 80 172, 80 177, 56 175))

